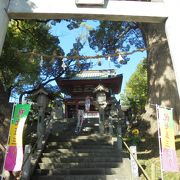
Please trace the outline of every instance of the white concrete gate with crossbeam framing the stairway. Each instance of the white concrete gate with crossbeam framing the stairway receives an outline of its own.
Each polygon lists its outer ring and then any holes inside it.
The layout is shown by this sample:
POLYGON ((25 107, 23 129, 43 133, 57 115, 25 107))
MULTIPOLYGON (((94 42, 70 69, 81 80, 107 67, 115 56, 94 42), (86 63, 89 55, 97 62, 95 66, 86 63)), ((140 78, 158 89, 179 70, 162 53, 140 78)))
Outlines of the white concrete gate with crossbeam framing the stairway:
MULTIPOLYGON (((81 0, 82 1, 82 0, 81 0)), ((87 0, 85 2, 88 2, 87 0)), ((160 59, 169 60, 171 64, 171 70, 169 73, 174 72, 172 79, 169 81, 175 81, 174 83, 174 92, 177 94, 174 98, 178 103, 163 102, 165 105, 176 105, 179 104, 179 95, 180 95, 180 71, 178 67, 180 65, 179 61, 179 49, 178 43, 180 42, 180 37, 178 34, 178 0, 151 0, 151 2, 140 2, 140 1, 119 1, 119 0, 109 0, 105 1, 104 4, 100 6, 78 6, 76 5, 75 0, 68 0, 66 3, 63 1, 57 0, 47 0, 46 2, 41 2, 39 0, 0 0, 0 51, 3 46, 5 39, 5 34, 8 26, 9 18, 12 19, 62 19, 62 18, 89 18, 89 19, 104 19, 104 20, 114 20, 114 21, 137 21, 137 22, 146 22, 146 23, 158 23, 158 25, 150 24, 148 29, 152 27, 152 32, 157 28, 156 34, 162 35, 162 39, 167 36, 168 42, 165 45, 156 51, 150 53, 149 58, 158 55, 159 50, 164 50, 164 55, 160 59), (153 30, 154 28, 154 30, 153 30), (169 45, 171 55, 169 54, 169 49, 165 48, 169 45), (165 50, 165 49, 166 50, 165 50), (154 55, 153 55, 154 53, 154 55), (171 58, 172 62, 171 62, 171 58)), ((148 39, 152 39, 153 34, 149 31, 148 39)), ((161 40, 162 40, 161 39, 161 40)), ((149 42, 151 43, 151 42, 149 42)), ((150 44, 149 44, 150 45, 150 44)), ((161 61, 161 62, 162 62, 161 61)), ((150 61, 151 62, 151 61, 150 61)), ((158 61, 159 62, 159 61, 158 61)), ((155 64, 154 64, 155 65, 155 64)), ((164 64, 165 65, 165 64, 164 64)), ((151 65, 149 65, 151 69, 151 65)), ((158 68, 162 66, 155 66, 154 69, 151 69, 152 72, 158 72, 158 68)), ((161 68, 162 70, 162 68, 161 68)), ((164 71, 165 73, 165 71, 164 71)), ((155 73, 157 74, 157 73, 155 73)), ((163 74, 162 74, 163 75, 163 74)), ((157 77, 157 76, 155 76, 157 77)), ((152 79, 151 79, 152 80, 152 79)), ((153 81, 153 80, 152 80, 153 81)), ((151 82, 150 82, 151 83, 151 82)), ((154 82, 155 83, 155 82, 154 82)), ((157 82, 156 82, 157 83, 157 82)), ((159 84, 159 87, 161 83, 159 84)), ((152 87, 152 86, 151 86, 152 87)), ((167 87, 167 84, 165 85, 167 87)), ((170 87, 170 86, 168 86, 170 87)), ((164 94, 168 94, 167 88, 164 91, 164 94)), ((171 89, 171 88, 170 88, 171 89)), ((155 96, 154 96, 155 97, 155 96)), ((158 96, 160 98, 160 96, 158 96)), ((156 97, 157 98, 157 97, 156 97)), ((151 98, 153 99, 153 98, 151 98)), ((172 97, 171 97, 172 99, 172 97)), ((176 101, 175 101, 176 102, 176 101)), ((150 103, 162 103, 154 102, 153 100, 150 103)), ((179 105, 177 106, 177 111, 179 110, 179 105)), ((153 114, 153 113, 152 113, 153 114)), ((151 116, 151 115, 150 115, 151 116)), ((177 120, 178 121, 178 120, 177 120)))

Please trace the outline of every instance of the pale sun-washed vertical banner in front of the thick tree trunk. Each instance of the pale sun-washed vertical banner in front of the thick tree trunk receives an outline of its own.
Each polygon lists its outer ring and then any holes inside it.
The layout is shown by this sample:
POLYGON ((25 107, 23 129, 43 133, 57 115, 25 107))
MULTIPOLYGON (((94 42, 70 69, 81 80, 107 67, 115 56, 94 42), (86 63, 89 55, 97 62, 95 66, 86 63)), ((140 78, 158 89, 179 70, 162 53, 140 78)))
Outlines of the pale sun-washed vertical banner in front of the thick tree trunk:
POLYGON ((161 134, 162 168, 165 172, 178 172, 174 139, 173 110, 157 106, 161 134))

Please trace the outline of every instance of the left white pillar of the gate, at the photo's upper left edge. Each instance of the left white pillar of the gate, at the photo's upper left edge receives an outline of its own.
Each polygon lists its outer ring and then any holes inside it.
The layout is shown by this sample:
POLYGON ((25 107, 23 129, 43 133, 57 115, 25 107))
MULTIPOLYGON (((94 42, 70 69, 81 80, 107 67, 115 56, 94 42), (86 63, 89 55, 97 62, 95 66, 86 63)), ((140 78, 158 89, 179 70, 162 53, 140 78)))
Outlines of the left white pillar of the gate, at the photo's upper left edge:
POLYGON ((9 18, 6 13, 8 4, 9 4, 9 0, 0 0, 0 55, 9 22, 9 18))

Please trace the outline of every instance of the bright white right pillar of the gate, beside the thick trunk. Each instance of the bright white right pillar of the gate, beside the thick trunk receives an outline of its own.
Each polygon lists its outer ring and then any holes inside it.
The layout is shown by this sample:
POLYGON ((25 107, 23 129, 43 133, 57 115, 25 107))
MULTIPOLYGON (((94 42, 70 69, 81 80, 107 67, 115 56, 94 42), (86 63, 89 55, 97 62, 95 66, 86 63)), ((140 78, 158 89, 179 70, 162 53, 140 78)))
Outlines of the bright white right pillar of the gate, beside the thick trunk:
POLYGON ((179 0, 164 0, 168 19, 166 20, 165 30, 168 39, 169 49, 171 53, 173 68, 176 76, 178 93, 180 97, 180 36, 179 36, 179 0))

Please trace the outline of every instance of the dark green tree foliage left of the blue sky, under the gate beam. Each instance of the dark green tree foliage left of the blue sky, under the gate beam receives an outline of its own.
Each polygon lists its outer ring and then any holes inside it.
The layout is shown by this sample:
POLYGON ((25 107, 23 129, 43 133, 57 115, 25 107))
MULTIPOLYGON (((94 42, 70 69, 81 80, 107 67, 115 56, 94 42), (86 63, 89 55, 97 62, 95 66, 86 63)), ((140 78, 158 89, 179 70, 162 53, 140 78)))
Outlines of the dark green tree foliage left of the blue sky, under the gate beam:
MULTIPOLYGON (((77 28, 80 23, 67 21, 69 29, 77 28)), ((39 85, 46 86, 64 73, 88 68, 85 61, 77 63, 74 59, 65 60, 66 68, 62 68, 64 51, 59 38, 50 33, 51 25, 57 22, 11 20, 9 23, 0 57, 0 94, 7 95, 4 99, 7 102, 13 93, 31 93, 39 85)), ((76 56, 82 48, 83 44, 77 39, 68 55, 76 56)))

